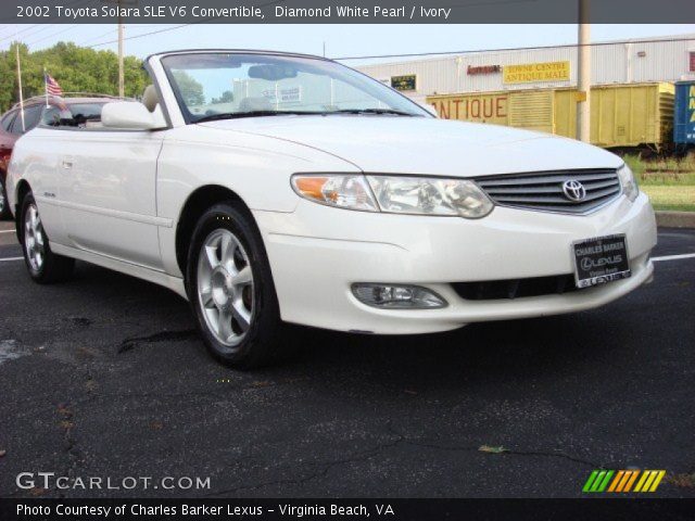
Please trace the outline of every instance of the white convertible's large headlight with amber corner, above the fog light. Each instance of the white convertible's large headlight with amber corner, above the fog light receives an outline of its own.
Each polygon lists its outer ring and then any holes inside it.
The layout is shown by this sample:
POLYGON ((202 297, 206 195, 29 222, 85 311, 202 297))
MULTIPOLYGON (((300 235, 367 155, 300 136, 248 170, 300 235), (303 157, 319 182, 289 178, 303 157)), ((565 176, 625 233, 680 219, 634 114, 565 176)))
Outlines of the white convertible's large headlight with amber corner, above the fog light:
POLYGON ((295 175, 302 198, 350 209, 391 214, 484 217, 493 204, 472 181, 405 176, 295 175))

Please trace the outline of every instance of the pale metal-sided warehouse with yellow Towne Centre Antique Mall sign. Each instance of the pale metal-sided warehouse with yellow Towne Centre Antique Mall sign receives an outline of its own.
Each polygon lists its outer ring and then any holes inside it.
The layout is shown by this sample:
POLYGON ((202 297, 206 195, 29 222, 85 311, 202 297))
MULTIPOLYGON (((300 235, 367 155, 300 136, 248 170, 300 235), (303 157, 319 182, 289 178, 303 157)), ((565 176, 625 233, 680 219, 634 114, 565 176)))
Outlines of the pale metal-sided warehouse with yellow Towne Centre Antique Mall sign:
MULTIPOLYGON (((576 86, 577 48, 470 52, 357 68, 425 103, 433 94, 576 86)), ((592 48, 593 85, 690 77, 695 77, 695 34, 599 42, 592 48)))

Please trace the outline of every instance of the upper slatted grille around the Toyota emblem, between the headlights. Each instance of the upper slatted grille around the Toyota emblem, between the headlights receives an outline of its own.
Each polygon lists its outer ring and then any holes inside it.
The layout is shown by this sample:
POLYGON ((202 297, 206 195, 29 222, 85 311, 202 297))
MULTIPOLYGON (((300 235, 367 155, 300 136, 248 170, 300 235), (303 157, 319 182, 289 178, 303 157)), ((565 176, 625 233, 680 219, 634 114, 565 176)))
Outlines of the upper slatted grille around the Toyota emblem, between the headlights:
POLYGON ((511 174, 476 179, 488 196, 502 206, 586 214, 620 194, 620 180, 615 169, 565 170, 535 174, 511 174), (581 201, 569 199, 565 181, 579 181, 585 189, 581 201))

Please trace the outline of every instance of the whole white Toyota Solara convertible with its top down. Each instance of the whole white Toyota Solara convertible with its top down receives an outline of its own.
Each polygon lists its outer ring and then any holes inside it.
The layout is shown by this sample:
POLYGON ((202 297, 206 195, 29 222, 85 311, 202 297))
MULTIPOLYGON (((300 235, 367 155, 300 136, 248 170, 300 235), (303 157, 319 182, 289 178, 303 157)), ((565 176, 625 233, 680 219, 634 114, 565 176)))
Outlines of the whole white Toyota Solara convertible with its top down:
POLYGON ((87 260, 188 298, 239 368, 283 323, 444 331, 578 312, 652 278, 654 212, 616 155, 441 120, 330 60, 177 51, 142 102, 39 126, 8 192, 37 282, 87 260))

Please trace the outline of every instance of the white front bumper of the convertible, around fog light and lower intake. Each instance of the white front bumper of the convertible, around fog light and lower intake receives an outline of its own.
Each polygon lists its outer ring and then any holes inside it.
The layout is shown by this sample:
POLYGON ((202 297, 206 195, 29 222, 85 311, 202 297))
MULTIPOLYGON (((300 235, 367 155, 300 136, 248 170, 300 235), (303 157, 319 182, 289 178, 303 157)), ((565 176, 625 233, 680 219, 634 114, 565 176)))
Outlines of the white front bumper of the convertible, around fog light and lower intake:
POLYGON ((497 206, 488 217, 422 217, 352 212, 302 201, 287 213, 253 212, 268 253, 283 320, 341 331, 427 333, 468 322, 579 312, 648 281, 656 244, 646 195, 624 196, 587 216, 497 206), (632 277, 567 294, 468 301, 453 282, 573 272, 571 243, 624 233, 632 277), (442 309, 380 309, 357 301, 354 282, 429 288, 442 309))

